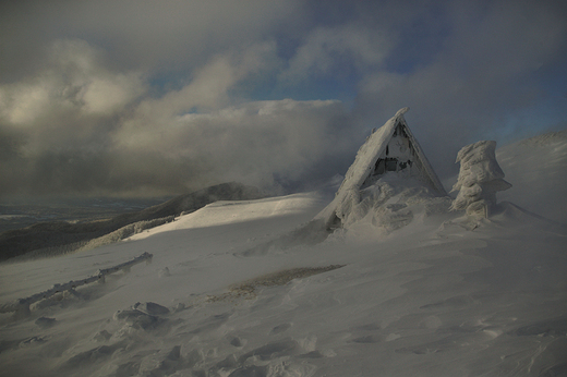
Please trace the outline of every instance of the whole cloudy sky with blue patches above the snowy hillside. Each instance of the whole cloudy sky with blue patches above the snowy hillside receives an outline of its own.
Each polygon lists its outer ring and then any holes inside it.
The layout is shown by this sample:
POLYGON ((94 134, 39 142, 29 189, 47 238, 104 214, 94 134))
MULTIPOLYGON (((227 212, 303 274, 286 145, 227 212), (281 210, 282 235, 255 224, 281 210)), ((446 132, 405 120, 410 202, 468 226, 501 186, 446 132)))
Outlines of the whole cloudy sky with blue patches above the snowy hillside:
POLYGON ((0 199, 307 190, 406 119, 458 149, 567 126, 565 1, 2 1, 0 199))

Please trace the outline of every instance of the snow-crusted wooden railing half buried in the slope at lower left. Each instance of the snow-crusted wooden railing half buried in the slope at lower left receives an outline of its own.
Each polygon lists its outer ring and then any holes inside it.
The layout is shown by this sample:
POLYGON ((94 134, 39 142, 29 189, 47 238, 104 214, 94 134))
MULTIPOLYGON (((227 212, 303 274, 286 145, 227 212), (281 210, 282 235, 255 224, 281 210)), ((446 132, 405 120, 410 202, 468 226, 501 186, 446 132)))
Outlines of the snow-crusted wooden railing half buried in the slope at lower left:
POLYGON ((142 263, 144 260, 148 264, 152 263, 152 257, 153 257, 153 255, 146 252, 140 256, 134 257, 132 260, 124 262, 120 265, 116 265, 110 268, 99 269, 98 271, 96 271, 96 275, 94 275, 89 278, 82 279, 82 280, 71 280, 71 281, 69 281, 67 283, 62 283, 62 284, 55 284, 51 289, 49 289, 47 291, 39 292, 39 293, 33 294, 28 297, 17 299, 10 303, 3 304, 2 306, 0 306, 0 313, 14 312, 15 317, 25 317, 25 316, 29 315, 29 313, 31 313, 29 305, 32 305, 40 300, 49 299, 57 293, 62 293, 65 291, 73 292, 75 288, 85 285, 85 284, 89 284, 93 282, 105 282, 105 277, 107 275, 110 275, 110 273, 113 273, 113 272, 117 272, 120 270, 128 272, 128 271, 130 271, 130 268, 132 266, 134 266, 138 263, 142 263))

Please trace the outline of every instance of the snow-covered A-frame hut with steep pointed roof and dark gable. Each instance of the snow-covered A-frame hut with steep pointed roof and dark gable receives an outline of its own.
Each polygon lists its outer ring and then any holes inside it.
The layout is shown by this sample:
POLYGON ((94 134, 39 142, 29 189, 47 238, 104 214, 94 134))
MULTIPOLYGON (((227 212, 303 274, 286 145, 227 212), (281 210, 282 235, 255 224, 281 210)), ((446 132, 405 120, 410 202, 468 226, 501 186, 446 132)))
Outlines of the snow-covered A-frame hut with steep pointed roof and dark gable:
POLYGON ((360 191, 373 185, 387 172, 417 179, 434 194, 447 195, 406 123, 403 114, 408 110, 400 109, 386 124, 373 131, 360 147, 335 199, 316 216, 325 221, 327 228, 340 227, 346 214, 360 202, 360 191))

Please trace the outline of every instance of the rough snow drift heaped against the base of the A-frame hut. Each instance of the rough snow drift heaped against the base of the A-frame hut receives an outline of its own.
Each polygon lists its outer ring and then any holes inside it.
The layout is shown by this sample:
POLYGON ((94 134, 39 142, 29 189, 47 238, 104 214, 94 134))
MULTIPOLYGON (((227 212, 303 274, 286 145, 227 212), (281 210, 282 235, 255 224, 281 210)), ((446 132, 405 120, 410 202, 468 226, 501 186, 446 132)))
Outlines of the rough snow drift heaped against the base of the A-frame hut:
POLYGON ((423 185, 421 180, 400 177, 395 172, 384 174, 363 190, 342 192, 340 199, 334 206, 337 218, 341 219, 340 227, 335 224, 335 228, 329 228, 325 223, 326 217, 319 212, 313 220, 292 231, 236 255, 260 256, 314 246, 329 235, 340 238, 340 234, 354 231, 355 228, 370 228, 375 235, 385 236, 410 223, 439 222, 450 217, 448 211, 451 199, 448 196, 439 197, 436 191, 423 185))

